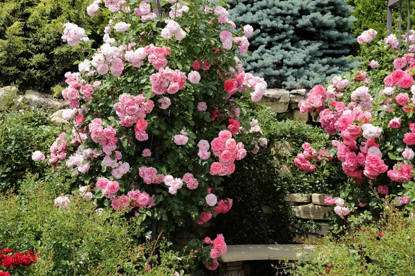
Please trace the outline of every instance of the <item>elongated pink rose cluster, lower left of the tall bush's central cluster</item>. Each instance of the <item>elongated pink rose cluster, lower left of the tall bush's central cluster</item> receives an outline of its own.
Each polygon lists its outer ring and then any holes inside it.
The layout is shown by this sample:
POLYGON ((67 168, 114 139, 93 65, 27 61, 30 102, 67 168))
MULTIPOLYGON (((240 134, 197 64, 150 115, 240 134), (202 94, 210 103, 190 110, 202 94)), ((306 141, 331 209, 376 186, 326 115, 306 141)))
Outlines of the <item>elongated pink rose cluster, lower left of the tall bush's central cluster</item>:
POLYGON ((103 128, 102 120, 99 118, 93 119, 89 124, 89 134, 91 139, 102 146, 102 150, 107 155, 116 150, 118 139, 116 137, 117 131, 112 126, 103 128))

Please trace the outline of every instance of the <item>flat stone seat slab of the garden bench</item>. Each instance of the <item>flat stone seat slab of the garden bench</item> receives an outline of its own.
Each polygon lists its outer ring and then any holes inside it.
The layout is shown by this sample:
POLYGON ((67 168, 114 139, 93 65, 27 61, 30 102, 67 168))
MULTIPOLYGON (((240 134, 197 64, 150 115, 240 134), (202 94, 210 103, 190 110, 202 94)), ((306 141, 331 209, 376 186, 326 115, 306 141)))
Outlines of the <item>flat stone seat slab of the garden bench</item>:
POLYGON ((315 250, 315 246, 305 244, 244 244, 228 246, 228 251, 221 255, 219 262, 256 261, 266 259, 287 259, 297 261, 302 253, 315 250))

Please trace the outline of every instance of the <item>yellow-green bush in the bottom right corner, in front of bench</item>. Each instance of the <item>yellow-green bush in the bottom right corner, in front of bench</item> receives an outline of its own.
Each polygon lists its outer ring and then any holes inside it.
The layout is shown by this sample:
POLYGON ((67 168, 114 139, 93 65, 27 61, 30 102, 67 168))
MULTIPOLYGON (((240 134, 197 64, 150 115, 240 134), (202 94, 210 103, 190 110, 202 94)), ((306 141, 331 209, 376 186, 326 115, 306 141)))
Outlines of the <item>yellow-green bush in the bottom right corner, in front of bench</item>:
POLYGON ((414 275, 415 220, 385 204, 375 224, 351 228, 340 238, 326 237, 317 250, 291 266, 290 275, 414 275))

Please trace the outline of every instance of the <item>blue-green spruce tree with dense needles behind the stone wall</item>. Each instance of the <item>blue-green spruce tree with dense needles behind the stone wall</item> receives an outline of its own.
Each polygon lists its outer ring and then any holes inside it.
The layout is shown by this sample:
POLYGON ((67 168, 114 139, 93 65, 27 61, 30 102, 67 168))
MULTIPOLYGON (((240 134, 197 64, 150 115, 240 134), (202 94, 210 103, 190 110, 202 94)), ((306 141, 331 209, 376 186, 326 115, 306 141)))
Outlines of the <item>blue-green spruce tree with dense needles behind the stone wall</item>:
POLYGON ((269 87, 311 88, 354 68, 353 8, 345 0, 227 0, 230 19, 250 24, 245 68, 269 87))

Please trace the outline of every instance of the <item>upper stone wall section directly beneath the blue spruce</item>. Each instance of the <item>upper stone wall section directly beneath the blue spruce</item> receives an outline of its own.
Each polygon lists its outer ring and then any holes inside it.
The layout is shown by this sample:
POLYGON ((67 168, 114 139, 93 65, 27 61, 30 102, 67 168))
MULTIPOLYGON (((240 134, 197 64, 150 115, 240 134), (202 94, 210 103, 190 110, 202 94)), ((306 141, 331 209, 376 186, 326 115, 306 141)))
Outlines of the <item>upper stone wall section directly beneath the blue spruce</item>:
POLYGON ((310 115, 308 113, 299 114, 298 103, 302 99, 306 99, 309 91, 308 89, 267 89, 259 103, 269 106, 271 111, 275 113, 284 113, 287 117, 300 119, 307 123, 310 115))

